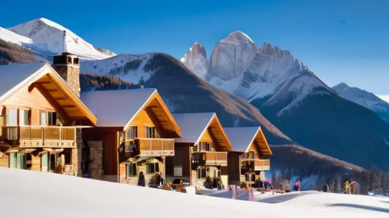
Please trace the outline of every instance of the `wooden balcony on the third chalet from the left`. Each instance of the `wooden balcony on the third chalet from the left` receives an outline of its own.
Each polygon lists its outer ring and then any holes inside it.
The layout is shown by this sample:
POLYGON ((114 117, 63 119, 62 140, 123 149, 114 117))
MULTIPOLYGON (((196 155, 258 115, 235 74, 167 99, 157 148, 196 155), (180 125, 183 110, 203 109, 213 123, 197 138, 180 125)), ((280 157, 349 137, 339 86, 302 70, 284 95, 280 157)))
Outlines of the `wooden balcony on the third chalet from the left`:
POLYGON ((209 166, 227 166, 227 152, 196 152, 192 154, 192 166, 197 167, 199 165, 209 166))

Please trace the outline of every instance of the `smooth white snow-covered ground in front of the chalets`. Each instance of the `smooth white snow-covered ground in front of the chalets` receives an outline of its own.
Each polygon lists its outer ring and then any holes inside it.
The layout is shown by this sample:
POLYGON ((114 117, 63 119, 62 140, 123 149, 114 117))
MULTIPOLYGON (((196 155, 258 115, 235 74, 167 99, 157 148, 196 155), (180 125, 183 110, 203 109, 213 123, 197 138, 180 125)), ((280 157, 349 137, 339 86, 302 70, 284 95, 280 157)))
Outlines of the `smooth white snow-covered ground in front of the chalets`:
MULTIPOLYGON (((301 192, 253 202, 3 167, 0 193, 1 218, 44 218, 53 214, 56 218, 389 216, 389 200, 370 196, 301 192)), ((217 191, 216 195, 222 193, 229 192, 217 191)))

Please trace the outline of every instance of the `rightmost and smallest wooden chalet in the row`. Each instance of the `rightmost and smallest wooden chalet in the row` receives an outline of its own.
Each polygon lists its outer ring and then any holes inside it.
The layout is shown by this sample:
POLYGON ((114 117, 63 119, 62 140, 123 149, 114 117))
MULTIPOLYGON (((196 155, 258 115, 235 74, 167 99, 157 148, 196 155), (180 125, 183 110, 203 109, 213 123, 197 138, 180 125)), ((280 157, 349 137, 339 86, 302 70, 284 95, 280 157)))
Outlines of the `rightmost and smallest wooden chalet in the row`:
POLYGON ((267 144, 261 127, 224 128, 234 151, 243 152, 240 156, 240 182, 251 185, 256 180, 265 180, 265 171, 270 170, 270 160, 264 156, 273 153, 267 144))

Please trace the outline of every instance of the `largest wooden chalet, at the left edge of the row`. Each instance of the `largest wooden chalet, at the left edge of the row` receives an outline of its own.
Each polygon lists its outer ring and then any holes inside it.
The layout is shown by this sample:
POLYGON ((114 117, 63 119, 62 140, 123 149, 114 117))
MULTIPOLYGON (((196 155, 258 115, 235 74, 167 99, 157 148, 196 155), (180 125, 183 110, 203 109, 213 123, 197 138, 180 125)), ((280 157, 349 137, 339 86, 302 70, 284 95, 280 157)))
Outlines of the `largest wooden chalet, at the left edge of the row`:
POLYGON ((0 166, 81 176, 81 125, 97 120, 61 77, 79 76, 69 60, 63 75, 49 63, 0 65, 0 166))

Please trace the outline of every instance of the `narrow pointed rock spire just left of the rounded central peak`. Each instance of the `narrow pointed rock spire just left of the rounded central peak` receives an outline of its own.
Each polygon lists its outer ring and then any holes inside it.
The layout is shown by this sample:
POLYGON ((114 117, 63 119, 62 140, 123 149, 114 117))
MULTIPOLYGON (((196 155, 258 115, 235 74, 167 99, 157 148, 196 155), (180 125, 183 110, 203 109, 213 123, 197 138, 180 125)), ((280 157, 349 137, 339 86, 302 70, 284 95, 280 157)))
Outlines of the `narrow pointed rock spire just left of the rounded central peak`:
POLYGON ((181 62, 201 79, 205 79, 208 71, 208 59, 205 48, 198 42, 189 49, 189 51, 182 57, 181 62))

